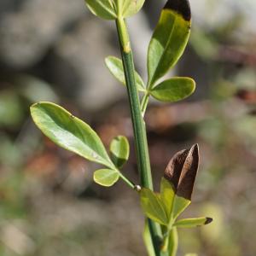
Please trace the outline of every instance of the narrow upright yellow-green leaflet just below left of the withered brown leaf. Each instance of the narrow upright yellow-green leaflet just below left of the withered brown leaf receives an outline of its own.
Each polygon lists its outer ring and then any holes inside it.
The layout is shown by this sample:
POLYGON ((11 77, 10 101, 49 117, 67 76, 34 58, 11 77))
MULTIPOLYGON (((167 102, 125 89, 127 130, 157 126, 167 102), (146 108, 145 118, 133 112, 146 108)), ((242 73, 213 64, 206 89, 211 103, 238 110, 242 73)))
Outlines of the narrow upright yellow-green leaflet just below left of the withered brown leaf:
POLYGON ((172 184, 162 177, 160 184, 160 199, 166 207, 166 214, 168 218, 172 215, 172 205, 174 201, 175 191, 172 184))

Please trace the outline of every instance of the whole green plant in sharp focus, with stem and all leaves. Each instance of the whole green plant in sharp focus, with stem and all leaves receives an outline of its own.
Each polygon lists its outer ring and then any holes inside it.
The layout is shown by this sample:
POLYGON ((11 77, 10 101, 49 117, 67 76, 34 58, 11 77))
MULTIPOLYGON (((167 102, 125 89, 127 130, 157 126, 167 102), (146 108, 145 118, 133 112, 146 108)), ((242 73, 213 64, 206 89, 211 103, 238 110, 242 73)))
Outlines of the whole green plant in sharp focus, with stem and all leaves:
POLYGON ((90 11, 103 19, 114 20, 119 36, 122 59, 108 56, 110 72, 126 85, 137 153, 140 185, 121 172, 129 159, 130 147, 123 137, 113 138, 109 154, 96 132, 72 113, 55 103, 32 105, 32 119, 53 142, 104 167, 96 170, 94 180, 110 187, 121 178, 140 195, 147 219, 144 241, 150 256, 171 256, 177 253, 177 229, 201 226, 212 218, 177 219, 191 202, 199 165, 199 148, 195 144, 172 157, 160 183, 160 194, 154 192, 146 125, 143 119, 149 96, 160 102, 178 102, 195 90, 195 81, 185 77, 161 80, 183 55, 189 40, 191 12, 188 0, 169 0, 160 14, 148 46, 148 82, 135 71, 126 18, 136 15, 144 0, 85 0, 90 11))

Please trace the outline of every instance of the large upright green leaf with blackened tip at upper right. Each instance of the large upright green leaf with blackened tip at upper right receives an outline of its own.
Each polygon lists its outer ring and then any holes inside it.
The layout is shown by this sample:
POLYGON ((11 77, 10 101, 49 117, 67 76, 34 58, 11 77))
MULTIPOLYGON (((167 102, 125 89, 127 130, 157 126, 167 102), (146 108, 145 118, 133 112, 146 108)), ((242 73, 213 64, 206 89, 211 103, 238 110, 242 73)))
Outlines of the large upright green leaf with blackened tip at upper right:
POLYGON ((189 40, 191 13, 188 0, 168 0, 148 46, 148 84, 151 87, 183 55, 189 40))

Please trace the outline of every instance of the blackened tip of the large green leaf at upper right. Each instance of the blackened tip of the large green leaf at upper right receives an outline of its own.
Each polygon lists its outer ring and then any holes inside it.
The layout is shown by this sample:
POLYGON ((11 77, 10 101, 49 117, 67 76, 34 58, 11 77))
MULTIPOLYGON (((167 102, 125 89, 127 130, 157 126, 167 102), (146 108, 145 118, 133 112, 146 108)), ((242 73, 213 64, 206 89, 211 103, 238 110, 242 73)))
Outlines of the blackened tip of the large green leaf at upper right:
POLYGON ((171 9, 182 15, 184 20, 191 20, 189 0, 168 0, 164 9, 171 9))

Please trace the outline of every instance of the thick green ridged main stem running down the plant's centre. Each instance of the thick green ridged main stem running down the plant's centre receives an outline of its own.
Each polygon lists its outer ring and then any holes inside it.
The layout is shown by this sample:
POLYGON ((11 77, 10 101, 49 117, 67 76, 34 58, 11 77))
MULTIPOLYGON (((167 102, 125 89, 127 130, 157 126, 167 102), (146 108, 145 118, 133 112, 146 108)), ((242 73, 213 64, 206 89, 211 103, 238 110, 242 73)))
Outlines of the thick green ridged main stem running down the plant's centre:
MULTIPOLYGON (((141 113, 141 106, 135 81, 134 62, 131 51, 131 44, 125 19, 120 17, 116 20, 117 31, 119 35, 119 44, 125 71, 125 82, 131 108, 131 121, 134 132, 138 170, 140 173, 141 184, 144 188, 153 189, 151 168, 148 154, 148 140, 146 127, 141 113)), ((148 219, 151 240, 154 244, 156 256, 160 254, 160 226, 148 219)))

